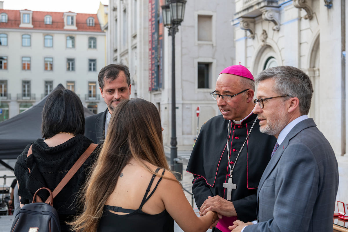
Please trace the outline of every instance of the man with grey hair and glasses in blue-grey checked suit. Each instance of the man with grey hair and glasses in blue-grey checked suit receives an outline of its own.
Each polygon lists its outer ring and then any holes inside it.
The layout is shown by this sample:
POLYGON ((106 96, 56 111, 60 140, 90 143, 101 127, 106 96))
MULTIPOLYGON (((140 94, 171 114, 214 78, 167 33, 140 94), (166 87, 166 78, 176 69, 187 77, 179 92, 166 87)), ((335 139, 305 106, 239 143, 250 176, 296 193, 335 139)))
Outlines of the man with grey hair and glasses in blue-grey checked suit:
POLYGON ((277 138, 257 192, 258 221, 235 221, 237 231, 333 231, 338 166, 331 145, 308 118, 308 75, 291 66, 262 71, 253 112, 260 131, 277 138), (279 145, 278 145, 279 144, 279 145))

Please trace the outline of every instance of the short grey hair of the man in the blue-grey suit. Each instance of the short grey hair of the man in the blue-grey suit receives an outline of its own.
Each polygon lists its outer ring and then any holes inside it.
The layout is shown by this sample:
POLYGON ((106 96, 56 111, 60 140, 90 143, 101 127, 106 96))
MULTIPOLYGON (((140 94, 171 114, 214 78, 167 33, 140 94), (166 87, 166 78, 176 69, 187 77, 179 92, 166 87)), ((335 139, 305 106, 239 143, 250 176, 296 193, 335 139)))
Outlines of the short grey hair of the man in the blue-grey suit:
POLYGON ((279 95, 290 95, 299 99, 301 115, 308 114, 313 95, 312 82, 302 70, 292 66, 277 66, 260 72, 255 82, 275 79, 274 89, 279 95))

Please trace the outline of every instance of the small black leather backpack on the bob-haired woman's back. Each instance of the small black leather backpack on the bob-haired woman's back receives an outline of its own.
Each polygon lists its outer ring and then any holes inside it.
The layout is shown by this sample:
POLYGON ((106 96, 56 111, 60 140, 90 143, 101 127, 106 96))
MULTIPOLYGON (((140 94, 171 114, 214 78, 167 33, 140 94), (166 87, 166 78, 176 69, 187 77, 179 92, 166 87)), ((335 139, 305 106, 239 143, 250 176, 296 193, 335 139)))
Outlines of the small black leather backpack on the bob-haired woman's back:
POLYGON ((53 195, 51 190, 45 187, 38 189, 34 194, 33 202, 25 204, 17 212, 11 232, 60 232, 61 225, 58 213, 52 205, 53 195), (49 204, 35 201, 37 193, 43 189, 47 190, 50 194, 49 204))

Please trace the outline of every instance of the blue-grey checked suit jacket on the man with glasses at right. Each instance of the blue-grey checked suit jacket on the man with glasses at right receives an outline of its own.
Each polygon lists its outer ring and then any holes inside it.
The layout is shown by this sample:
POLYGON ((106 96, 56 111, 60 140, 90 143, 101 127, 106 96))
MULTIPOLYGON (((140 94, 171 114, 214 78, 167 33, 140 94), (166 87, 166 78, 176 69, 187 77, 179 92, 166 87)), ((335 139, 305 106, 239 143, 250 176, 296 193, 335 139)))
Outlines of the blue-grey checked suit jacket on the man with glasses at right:
POLYGON ((258 221, 247 231, 333 231, 338 166, 313 119, 299 122, 264 170, 257 192, 258 221))

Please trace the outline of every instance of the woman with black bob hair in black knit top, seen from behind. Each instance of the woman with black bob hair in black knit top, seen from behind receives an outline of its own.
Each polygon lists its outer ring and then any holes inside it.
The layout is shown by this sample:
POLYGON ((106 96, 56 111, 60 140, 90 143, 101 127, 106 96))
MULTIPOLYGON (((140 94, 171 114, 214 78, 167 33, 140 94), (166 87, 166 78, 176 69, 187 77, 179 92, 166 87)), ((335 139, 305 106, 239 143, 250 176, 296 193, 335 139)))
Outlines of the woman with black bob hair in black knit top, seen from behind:
MULTIPOLYGON (((45 140, 39 138, 27 145, 15 165, 21 205, 30 203, 34 193, 41 187, 53 191, 81 154, 93 143, 83 135, 85 117, 80 98, 65 88, 58 87, 47 96, 42 111, 41 131, 45 140), (27 157, 30 146, 32 154, 27 157)), ((62 231, 70 231, 64 222, 71 221, 73 216, 81 213, 76 210, 77 194, 96 157, 97 153, 93 152, 53 199, 53 207, 58 211, 62 231)), ((46 191, 40 191, 38 195, 44 202, 48 198, 46 191)))

